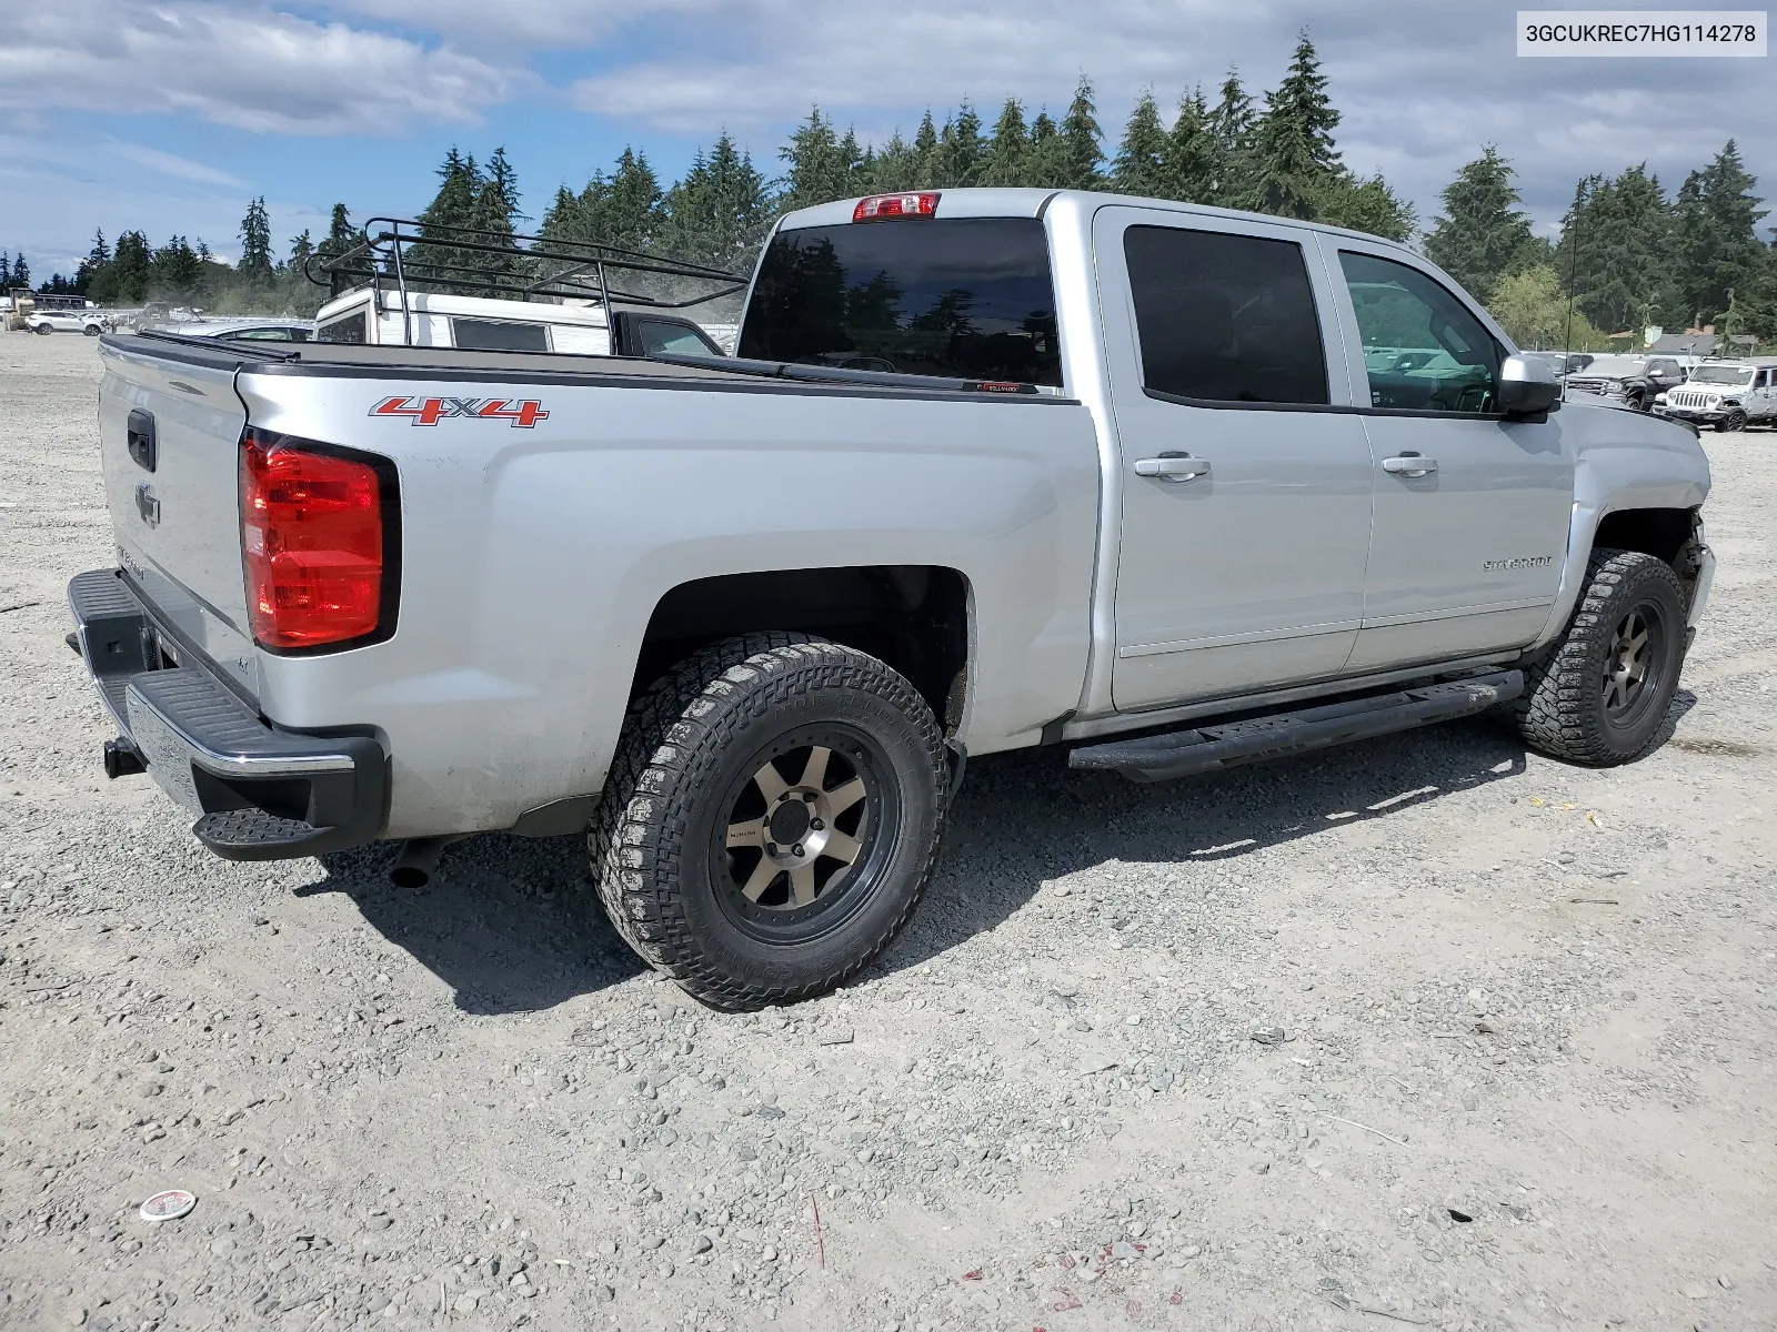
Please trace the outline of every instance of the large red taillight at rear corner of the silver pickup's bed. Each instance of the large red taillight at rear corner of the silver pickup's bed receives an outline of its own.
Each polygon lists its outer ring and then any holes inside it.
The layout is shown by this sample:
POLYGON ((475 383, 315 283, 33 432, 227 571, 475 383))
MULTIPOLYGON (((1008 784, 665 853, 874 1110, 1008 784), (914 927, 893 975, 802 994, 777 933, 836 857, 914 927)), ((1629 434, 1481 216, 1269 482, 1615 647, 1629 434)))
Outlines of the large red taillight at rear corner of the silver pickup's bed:
POLYGON ((371 464, 247 432, 240 536, 254 641, 313 648, 377 632, 382 499, 382 478, 371 464))

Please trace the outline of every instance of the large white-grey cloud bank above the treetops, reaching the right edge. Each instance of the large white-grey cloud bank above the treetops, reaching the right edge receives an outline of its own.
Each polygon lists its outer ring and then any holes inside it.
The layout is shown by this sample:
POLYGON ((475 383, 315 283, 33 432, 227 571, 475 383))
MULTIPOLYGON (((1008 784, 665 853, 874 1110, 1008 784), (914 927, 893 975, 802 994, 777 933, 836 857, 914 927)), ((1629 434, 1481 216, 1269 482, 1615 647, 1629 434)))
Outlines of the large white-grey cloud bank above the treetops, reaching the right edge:
POLYGON ((732 0, 704 23, 647 20, 657 37, 647 53, 576 80, 569 98, 643 135, 729 128, 769 156, 810 103, 880 137, 963 96, 988 121, 1008 94, 1054 112, 1084 71, 1114 151, 1144 87, 1169 112, 1196 83, 1214 94, 1237 64, 1258 94, 1278 83, 1306 28, 1345 117, 1347 162, 1384 170, 1425 222, 1487 142, 1514 160, 1542 218, 1562 211, 1576 178, 1644 158, 1672 188, 1731 135, 1773 192, 1777 147, 1757 110, 1770 101, 1766 60, 1521 60, 1514 14, 1516 0, 732 0))

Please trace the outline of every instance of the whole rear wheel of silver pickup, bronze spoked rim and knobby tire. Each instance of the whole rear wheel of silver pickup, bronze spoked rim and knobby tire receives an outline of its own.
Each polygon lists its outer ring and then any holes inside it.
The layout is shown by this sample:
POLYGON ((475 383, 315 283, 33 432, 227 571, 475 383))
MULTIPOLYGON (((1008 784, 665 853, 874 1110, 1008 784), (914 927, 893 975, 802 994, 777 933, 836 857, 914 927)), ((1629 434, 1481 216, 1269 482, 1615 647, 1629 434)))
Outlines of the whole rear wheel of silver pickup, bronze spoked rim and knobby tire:
POLYGON ((906 924, 947 805, 897 671, 800 634, 682 661, 631 707, 588 833, 606 915, 718 1009, 819 995, 906 924))

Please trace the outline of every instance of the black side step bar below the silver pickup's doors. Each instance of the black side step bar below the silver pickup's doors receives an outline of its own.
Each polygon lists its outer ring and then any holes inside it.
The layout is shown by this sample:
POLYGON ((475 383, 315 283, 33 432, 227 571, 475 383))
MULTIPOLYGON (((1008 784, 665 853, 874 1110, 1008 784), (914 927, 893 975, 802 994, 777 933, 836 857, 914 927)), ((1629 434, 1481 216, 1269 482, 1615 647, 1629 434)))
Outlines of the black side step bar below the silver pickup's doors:
POLYGON ((1466 718, 1521 693, 1525 693, 1523 671, 1493 671, 1221 726, 1088 744, 1068 755, 1068 767, 1121 773, 1130 781, 1169 781, 1194 773, 1324 749, 1347 741, 1365 741, 1432 721, 1466 718))

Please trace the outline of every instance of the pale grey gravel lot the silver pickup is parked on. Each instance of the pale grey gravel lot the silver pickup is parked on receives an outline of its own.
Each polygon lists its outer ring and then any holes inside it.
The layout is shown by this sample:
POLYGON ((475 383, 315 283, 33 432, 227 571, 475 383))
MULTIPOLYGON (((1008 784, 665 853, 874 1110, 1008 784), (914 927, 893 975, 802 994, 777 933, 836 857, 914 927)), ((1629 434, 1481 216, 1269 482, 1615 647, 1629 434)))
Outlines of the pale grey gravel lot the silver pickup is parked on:
POLYGON ((0 1325, 1777 1327, 1777 433, 1646 762, 983 760, 887 961, 732 1018, 574 840, 405 893, 105 781, 96 378, 0 336, 0 1325))

